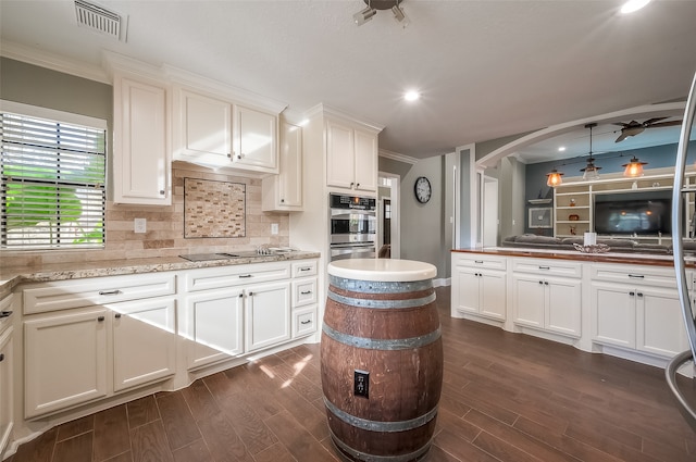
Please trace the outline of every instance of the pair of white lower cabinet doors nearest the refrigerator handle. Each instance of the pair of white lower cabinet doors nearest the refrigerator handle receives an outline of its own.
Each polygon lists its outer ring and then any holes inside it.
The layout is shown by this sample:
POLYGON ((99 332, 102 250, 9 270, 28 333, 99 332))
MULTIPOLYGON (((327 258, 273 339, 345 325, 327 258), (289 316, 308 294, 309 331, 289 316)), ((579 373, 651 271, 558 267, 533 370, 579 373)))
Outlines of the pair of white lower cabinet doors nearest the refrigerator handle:
POLYGON ((676 289, 592 283, 593 340, 664 358, 688 349, 676 289))

